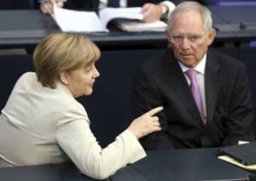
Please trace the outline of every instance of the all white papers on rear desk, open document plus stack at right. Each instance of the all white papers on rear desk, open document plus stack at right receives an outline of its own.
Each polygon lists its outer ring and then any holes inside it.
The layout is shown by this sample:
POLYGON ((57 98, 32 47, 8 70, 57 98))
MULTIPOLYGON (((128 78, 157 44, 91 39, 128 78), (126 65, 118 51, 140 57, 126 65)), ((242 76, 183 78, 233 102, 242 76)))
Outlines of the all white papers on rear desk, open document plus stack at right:
POLYGON ((54 6, 52 17, 62 31, 69 32, 108 32, 107 25, 111 20, 124 31, 164 31, 167 26, 161 21, 143 23, 141 7, 107 7, 97 15, 95 12, 54 6))

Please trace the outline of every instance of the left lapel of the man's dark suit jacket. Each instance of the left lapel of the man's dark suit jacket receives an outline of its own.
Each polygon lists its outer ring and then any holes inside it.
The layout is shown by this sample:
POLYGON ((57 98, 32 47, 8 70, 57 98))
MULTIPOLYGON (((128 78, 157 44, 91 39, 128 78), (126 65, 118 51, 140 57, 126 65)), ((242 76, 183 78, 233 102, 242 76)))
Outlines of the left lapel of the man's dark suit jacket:
POLYGON ((166 70, 166 81, 173 89, 181 103, 185 105, 187 111, 194 116, 198 122, 202 123, 197 105, 195 104, 194 97, 190 91, 189 84, 182 73, 181 66, 177 62, 171 50, 168 50, 164 55, 164 70, 166 70))

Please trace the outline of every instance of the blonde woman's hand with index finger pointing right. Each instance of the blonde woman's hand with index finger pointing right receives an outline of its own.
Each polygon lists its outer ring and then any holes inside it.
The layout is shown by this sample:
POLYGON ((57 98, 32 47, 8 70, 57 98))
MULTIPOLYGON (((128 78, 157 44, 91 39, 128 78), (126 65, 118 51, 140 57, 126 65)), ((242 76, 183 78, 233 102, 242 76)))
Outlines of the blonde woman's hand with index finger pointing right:
POLYGON ((158 116, 155 116, 156 113, 163 110, 163 107, 154 108, 139 118, 134 119, 128 130, 132 132, 137 139, 150 134, 151 132, 160 131, 160 123, 158 116))

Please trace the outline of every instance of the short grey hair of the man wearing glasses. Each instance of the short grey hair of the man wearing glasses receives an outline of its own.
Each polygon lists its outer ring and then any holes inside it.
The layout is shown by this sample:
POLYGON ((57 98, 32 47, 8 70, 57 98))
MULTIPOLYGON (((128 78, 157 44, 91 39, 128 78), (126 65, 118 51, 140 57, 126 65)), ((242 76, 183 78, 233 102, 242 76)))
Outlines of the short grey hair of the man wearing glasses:
POLYGON ((199 4, 198 2, 193 1, 185 1, 181 2, 176 8, 171 12, 171 15, 168 20, 168 30, 170 30, 171 26, 173 25, 173 19, 179 12, 186 12, 189 10, 197 11, 200 13, 203 21, 203 28, 205 30, 211 30, 213 28, 213 20, 211 18, 210 10, 199 4))

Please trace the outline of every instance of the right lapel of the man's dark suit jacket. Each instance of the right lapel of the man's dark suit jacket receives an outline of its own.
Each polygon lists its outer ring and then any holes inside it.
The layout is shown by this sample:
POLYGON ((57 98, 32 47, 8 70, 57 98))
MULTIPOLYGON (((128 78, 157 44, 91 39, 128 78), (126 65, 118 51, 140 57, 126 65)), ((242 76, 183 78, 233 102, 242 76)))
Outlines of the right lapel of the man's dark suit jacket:
POLYGON ((216 100, 221 86, 221 78, 218 74, 220 64, 213 53, 208 50, 207 63, 205 67, 205 99, 207 107, 207 124, 213 119, 216 100))

